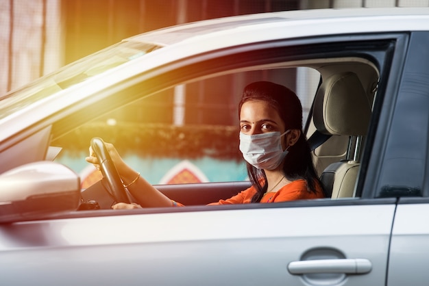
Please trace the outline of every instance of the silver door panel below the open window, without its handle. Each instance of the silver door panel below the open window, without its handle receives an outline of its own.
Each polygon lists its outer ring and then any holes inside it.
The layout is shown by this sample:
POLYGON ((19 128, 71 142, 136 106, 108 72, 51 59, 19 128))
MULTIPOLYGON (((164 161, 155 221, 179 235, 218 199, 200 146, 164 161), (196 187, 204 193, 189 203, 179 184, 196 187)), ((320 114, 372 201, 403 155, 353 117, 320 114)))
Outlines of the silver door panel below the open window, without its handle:
POLYGON ((395 205, 207 208, 2 226, 2 281, 76 285, 97 277, 97 283, 114 284, 121 277, 128 285, 261 285, 270 277, 270 285, 297 285, 301 279, 384 284, 395 205), (23 240, 22 233, 29 231, 32 236, 23 240), (289 274, 287 265, 304 254, 307 259, 369 259, 371 272, 289 274), (23 268, 32 271, 20 276, 23 268))

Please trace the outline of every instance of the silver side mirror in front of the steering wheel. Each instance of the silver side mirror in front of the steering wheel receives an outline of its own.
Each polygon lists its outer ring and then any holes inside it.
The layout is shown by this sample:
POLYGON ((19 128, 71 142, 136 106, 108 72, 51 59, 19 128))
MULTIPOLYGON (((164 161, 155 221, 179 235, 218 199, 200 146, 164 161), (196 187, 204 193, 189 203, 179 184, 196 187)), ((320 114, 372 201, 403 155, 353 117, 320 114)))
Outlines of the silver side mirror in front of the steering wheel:
POLYGON ((25 164, 0 174, 0 222, 75 211, 79 200, 79 176, 53 161, 25 164))

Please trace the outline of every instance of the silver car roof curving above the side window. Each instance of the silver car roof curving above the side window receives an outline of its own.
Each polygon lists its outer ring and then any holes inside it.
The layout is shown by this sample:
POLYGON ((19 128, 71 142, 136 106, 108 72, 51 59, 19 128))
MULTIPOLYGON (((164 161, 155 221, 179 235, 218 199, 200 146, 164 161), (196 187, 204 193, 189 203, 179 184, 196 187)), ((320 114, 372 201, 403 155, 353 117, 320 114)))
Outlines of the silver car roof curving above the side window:
POLYGON ((210 38, 219 34, 226 39, 228 35, 236 36, 237 30, 240 30, 241 42, 250 42, 254 41, 258 29, 267 29, 270 26, 273 29, 291 27, 284 29, 282 38, 348 34, 354 31, 370 33, 428 30, 429 8, 315 9, 249 14, 176 25, 125 40, 167 46, 206 38, 208 34, 210 38), (246 40, 246 37, 249 37, 249 40, 246 40))

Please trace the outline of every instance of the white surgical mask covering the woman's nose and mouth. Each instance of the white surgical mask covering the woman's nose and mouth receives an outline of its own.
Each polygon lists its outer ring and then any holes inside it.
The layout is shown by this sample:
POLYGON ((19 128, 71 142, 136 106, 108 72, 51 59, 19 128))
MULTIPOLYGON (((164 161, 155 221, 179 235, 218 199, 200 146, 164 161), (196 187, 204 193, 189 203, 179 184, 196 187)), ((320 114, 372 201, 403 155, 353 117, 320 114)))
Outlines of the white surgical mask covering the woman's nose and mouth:
POLYGON ((244 159, 258 169, 273 170, 282 163, 289 152, 283 151, 282 136, 290 130, 247 135, 240 132, 240 151, 244 159))

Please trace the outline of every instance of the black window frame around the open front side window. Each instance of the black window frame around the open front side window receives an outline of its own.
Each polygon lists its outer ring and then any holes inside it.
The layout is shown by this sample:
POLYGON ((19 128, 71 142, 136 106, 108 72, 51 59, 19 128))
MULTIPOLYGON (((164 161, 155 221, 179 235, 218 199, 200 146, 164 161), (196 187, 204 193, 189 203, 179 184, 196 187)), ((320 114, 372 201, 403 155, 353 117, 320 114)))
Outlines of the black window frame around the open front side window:
MULTIPOLYGON (((223 49, 220 51, 214 51, 212 53, 206 53, 202 55, 195 55, 194 57, 189 57, 180 62, 175 62, 168 67, 160 67, 158 70, 152 70, 150 73, 156 74, 156 76, 151 77, 150 75, 138 75, 130 81, 137 82, 132 86, 127 86, 123 89, 117 87, 115 90, 120 90, 121 93, 127 94, 126 99, 121 99, 123 105, 130 104, 141 97, 144 90, 145 96, 149 96, 158 90, 163 90, 171 86, 186 83, 195 78, 202 79, 204 77, 210 77, 212 75, 217 75, 225 73, 225 71, 239 70, 247 66, 262 66, 276 64, 278 62, 292 62, 299 60, 315 59, 315 58, 326 58, 326 57, 363 57, 367 60, 371 60, 380 71, 380 86, 378 89, 377 102, 380 105, 382 102, 383 94, 388 86, 387 79, 391 81, 389 75, 394 73, 395 63, 399 64, 396 57, 397 50, 401 51, 404 49, 404 41, 406 40, 406 35, 397 34, 397 33, 388 33, 388 34, 358 34, 358 35, 347 35, 347 36, 328 36, 328 37, 315 37, 315 38, 302 38, 295 40, 279 40, 275 42, 262 42, 256 44, 249 44, 241 47, 232 47, 230 49, 223 49), (386 43, 393 44, 393 50, 390 52, 392 55, 395 55, 395 58, 389 62, 389 57, 387 57, 386 51, 384 51, 384 46, 386 43), (400 44, 397 44, 397 43, 400 44), (380 48, 380 43, 382 46, 380 48), (291 49, 288 49, 291 48, 291 49), (285 51, 289 51, 286 53, 285 51), (249 59, 246 61, 238 60, 239 58, 249 59), (163 70, 167 70, 162 73, 163 70), (174 75, 176 75, 174 77, 174 75), (177 76, 180 75, 180 76, 177 76), (138 79, 144 79, 139 81, 138 79), (156 87, 156 88, 154 88, 156 87)), ((389 44, 387 45, 389 47, 389 44)), ((392 47, 391 47, 392 48, 392 47)), ((390 56, 392 56, 390 55, 390 56)), ((400 59, 399 59, 400 60, 400 59)), ((92 114, 92 116, 98 116, 102 114, 103 111, 108 109, 111 106, 113 101, 117 100, 118 96, 115 96, 115 92, 109 92, 108 96, 103 102, 103 106, 97 109, 97 114, 92 114)), ((125 96, 124 96, 125 97, 125 96)), ((58 132, 58 130, 63 129, 64 124, 70 124, 66 122, 82 122, 82 120, 87 120, 85 113, 88 112, 90 107, 83 107, 79 112, 67 116, 64 120, 60 120, 58 124, 53 125, 53 133, 58 132), (84 119, 82 119, 84 118, 84 119)), ((377 109, 377 112, 380 110, 377 109)), ((377 114, 375 118, 371 120, 377 120, 380 118, 380 114, 377 114)), ((69 128, 70 129, 70 128, 69 128)), ((376 129, 374 124, 371 123, 370 132, 375 132, 376 129)), ((55 136, 54 136, 55 137, 55 136)), ((374 138, 369 136, 367 140, 367 147, 364 150, 363 163, 360 171, 360 176, 358 178, 358 192, 361 196, 360 200, 351 200, 352 204, 367 204, 368 200, 363 200, 363 198, 374 198, 375 193, 373 192, 371 180, 367 180, 366 174, 369 170, 369 157, 371 156, 371 146, 373 145, 374 138)), ((379 165, 377 162, 373 161, 371 158, 371 168, 377 168, 379 165)), ((370 177, 373 179, 372 177, 370 177)), ((233 185, 232 183, 224 183, 225 185, 233 185)), ((184 185, 177 185, 177 189, 184 188, 184 185)), ((173 187, 174 188, 174 187, 173 187)), ((386 200, 391 203, 391 200, 386 200)), ((329 203, 326 200, 315 200, 312 202, 286 202, 280 203, 275 207, 292 207, 295 204, 297 206, 301 205, 343 205, 349 204, 350 201, 330 201, 329 203)), ((382 203, 382 200, 378 200, 378 203, 382 203)), ((224 206, 222 206, 224 207, 224 206)), ((265 204, 258 204, 252 206, 232 206, 230 208, 265 208, 265 204)), ((177 209, 177 208, 174 208, 177 209)), ((180 208, 179 208, 180 209, 180 208)), ((188 211, 201 210, 201 207, 186 207, 188 211)), ((203 208, 204 209, 204 208, 203 208)), ((167 211, 167 210, 164 210, 167 211)), ((149 212, 151 212, 149 210, 149 212)))

